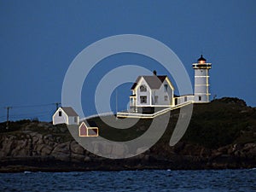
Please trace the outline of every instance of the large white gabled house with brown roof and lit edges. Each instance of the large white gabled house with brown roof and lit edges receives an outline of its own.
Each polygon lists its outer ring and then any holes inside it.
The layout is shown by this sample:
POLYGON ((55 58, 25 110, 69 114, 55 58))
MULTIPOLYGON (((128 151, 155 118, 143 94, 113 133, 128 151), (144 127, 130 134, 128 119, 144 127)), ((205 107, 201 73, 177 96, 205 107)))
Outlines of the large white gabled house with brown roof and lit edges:
POLYGON ((147 112, 153 108, 170 107, 174 105, 174 87, 166 75, 139 76, 131 87, 131 111, 147 112))

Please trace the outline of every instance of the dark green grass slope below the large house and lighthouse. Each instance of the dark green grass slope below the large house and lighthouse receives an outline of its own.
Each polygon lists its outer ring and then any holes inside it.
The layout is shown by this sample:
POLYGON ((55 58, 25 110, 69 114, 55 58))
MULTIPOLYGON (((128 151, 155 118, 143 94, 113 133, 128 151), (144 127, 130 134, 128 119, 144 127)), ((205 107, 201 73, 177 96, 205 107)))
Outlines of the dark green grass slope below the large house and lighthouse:
MULTIPOLYGON (((189 128, 182 141, 206 148, 219 148, 232 143, 256 143, 256 110, 241 103, 237 104, 236 98, 229 98, 195 104, 189 128)), ((175 114, 178 113, 179 110, 172 111, 166 133, 160 139, 161 143, 169 142, 177 123, 175 114)), ((147 131, 151 122, 150 119, 140 119, 130 129, 117 130, 100 118, 90 119, 90 123, 100 128, 100 136, 113 141, 128 141, 139 137, 147 131)))

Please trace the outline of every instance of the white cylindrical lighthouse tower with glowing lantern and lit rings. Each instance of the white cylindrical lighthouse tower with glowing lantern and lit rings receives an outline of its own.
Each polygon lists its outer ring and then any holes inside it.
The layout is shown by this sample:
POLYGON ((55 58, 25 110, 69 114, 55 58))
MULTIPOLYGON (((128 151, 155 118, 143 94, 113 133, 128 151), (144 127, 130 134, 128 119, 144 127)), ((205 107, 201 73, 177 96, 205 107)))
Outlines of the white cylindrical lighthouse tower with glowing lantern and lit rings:
POLYGON ((212 63, 207 63, 201 55, 197 63, 193 63, 193 68, 195 69, 194 102, 210 102, 209 69, 212 68, 212 63))

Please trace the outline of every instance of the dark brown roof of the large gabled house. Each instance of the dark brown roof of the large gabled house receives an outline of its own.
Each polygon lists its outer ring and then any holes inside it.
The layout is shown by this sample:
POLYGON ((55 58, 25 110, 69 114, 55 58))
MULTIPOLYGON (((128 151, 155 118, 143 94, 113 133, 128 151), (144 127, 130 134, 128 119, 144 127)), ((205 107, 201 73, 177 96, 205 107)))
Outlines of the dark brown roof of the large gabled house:
POLYGON ((138 76, 136 82, 131 86, 131 90, 134 90, 137 86, 138 81, 143 77, 147 82, 150 89, 159 89, 161 84, 165 81, 166 75, 149 75, 149 76, 138 76))

